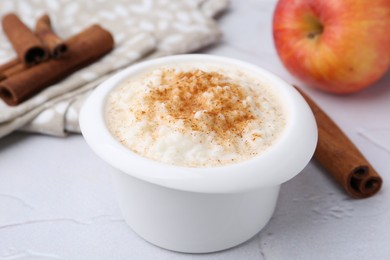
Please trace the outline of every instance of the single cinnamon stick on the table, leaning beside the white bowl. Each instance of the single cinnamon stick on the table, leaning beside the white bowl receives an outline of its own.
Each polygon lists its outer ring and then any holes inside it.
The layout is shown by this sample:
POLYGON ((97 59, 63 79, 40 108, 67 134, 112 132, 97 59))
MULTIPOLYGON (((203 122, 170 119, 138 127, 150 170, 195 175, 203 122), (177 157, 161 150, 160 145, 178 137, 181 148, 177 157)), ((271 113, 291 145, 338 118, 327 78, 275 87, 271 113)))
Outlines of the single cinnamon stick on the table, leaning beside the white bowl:
POLYGON ((377 193, 382 178, 345 133, 303 91, 297 90, 312 109, 318 126, 318 144, 314 158, 354 198, 377 193))

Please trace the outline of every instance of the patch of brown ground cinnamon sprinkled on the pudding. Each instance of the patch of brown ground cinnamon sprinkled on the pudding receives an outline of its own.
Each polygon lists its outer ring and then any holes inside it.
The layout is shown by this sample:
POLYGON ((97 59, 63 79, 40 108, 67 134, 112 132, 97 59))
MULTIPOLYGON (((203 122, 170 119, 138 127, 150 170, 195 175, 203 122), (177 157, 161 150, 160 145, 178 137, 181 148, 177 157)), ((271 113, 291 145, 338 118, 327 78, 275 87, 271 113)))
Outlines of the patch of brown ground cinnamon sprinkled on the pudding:
POLYGON ((161 86, 151 88, 145 97, 148 110, 138 112, 136 117, 141 120, 169 115, 168 120, 182 120, 194 131, 215 132, 225 139, 232 134, 241 136, 248 122, 255 119, 250 107, 242 102, 246 97, 239 85, 222 74, 167 69, 162 71, 161 86), (161 113, 161 104, 166 114, 161 113))

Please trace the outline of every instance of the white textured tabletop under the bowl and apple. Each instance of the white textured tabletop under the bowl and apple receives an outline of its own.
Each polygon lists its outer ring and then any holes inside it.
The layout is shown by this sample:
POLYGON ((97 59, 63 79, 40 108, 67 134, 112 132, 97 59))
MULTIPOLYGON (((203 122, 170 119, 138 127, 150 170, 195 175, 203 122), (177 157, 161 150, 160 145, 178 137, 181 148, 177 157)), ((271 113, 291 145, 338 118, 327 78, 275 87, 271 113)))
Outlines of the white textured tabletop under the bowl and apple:
POLYGON ((16 133, 0 139, 0 259, 390 259, 390 74, 349 96, 314 91, 283 68, 273 47, 275 1, 233 1, 218 46, 296 83, 340 125, 384 179, 350 199, 315 163, 282 185, 276 212, 250 241, 214 254, 157 248, 122 220, 109 167, 81 136, 16 133))

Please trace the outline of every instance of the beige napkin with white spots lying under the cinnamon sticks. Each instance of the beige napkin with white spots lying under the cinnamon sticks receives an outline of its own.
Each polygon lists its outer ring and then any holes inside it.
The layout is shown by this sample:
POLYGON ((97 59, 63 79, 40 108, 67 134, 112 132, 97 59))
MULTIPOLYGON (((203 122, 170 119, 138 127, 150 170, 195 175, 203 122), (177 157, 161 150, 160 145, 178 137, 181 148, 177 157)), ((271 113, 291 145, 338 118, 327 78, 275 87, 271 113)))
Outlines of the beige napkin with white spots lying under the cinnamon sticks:
MULTIPOLYGON (((0 137, 15 130, 55 136, 79 133, 78 113, 93 88, 134 62, 217 42, 221 32, 213 17, 227 5, 228 0, 1 0, 1 17, 15 12, 34 28, 37 18, 47 13, 64 39, 98 23, 113 34, 115 48, 16 107, 0 100, 0 137)), ((0 63, 5 63, 15 53, 0 34, 0 63)))

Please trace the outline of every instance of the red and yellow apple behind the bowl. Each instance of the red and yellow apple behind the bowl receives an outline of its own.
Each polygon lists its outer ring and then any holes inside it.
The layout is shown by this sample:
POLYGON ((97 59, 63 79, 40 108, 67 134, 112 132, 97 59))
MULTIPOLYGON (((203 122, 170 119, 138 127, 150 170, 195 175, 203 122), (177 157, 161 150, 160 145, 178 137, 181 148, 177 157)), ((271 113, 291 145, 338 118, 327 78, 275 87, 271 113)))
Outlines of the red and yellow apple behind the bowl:
POLYGON ((328 92, 356 92, 390 67, 390 0, 279 0, 273 35, 297 78, 328 92))

